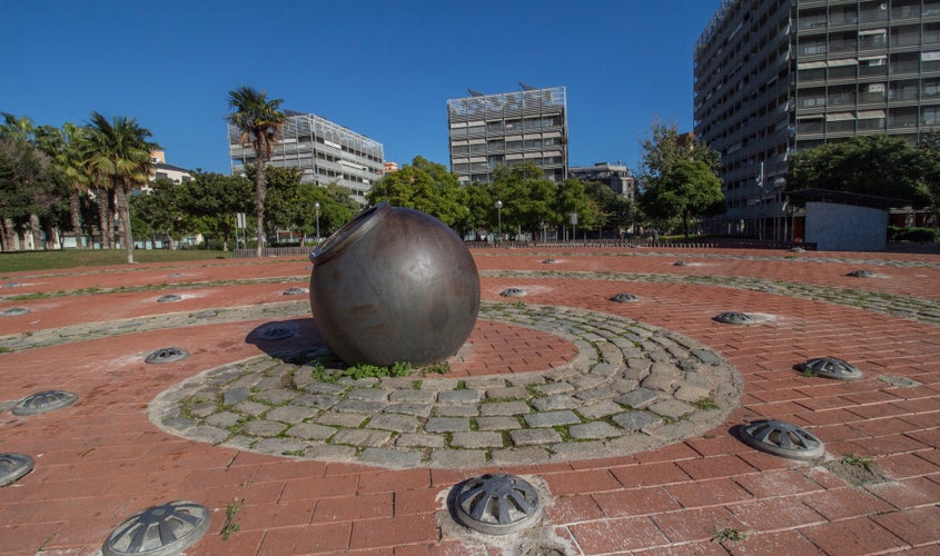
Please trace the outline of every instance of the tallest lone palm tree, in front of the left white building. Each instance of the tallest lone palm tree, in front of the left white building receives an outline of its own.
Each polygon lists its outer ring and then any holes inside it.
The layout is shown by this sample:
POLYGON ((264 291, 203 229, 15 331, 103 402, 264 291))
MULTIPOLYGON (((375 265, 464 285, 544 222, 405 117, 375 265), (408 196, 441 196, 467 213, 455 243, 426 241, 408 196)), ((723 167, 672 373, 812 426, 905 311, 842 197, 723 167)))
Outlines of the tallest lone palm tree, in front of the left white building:
POLYGON ((255 149, 255 215, 258 219, 258 257, 264 247, 265 193, 267 192, 268 161, 280 140, 280 131, 287 116, 280 110, 283 99, 268 99, 265 91, 243 86, 228 92, 228 106, 232 113, 226 115, 229 126, 241 133, 241 145, 255 149))

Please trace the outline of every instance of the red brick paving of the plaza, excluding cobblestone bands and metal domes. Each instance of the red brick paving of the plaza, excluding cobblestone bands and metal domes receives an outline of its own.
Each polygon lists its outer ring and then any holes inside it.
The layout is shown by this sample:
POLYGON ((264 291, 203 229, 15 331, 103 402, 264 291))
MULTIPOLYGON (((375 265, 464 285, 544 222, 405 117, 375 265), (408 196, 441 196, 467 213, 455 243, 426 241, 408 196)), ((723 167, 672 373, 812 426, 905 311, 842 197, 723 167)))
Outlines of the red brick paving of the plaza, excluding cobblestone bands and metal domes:
MULTIPOLYGON (((746 276, 819 286, 865 289, 940 299, 940 269, 872 266, 885 278, 844 275, 853 262, 804 259, 842 257, 940 264, 937 256, 801 254, 782 251, 591 249, 475 252, 481 270, 570 270, 746 276), (761 257, 759 260, 706 257, 761 257), (772 256, 770 259, 764 259, 772 256), (693 265, 674 267, 675 259, 693 265)), ((139 265, 132 269, 10 275, 21 284, 2 295, 73 291, 181 281, 285 277, 277 284, 210 285, 177 304, 154 299, 172 289, 0 301, 0 309, 28 307, 30 315, 0 319, 0 335, 68 324, 102 321, 232 305, 285 300, 304 286, 303 258, 264 261, 139 265), (169 275, 181 275, 172 276, 169 275), (198 295, 195 295, 198 294, 198 295)), ((675 554, 871 554, 908 549, 940 552, 940 327, 796 297, 687 284, 484 277, 483 297, 524 287, 526 304, 606 311, 691 336, 726 357, 744 379, 742 405, 700 438, 659 450, 606 459, 521 466, 511 473, 541 477, 552 494, 544 526, 576 554, 627 552, 675 554), (612 304, 629 291, 637 304, 612 304), (769 322, 736 327, 711 317, 724 310, 773 315, 769 322), (803 377, 793 365, 830 355, 850 360, 865 376, 854 383, 803 377), (902 388, 878 379, 911 378, 902 388), (731 428, 748 419, 779 418, 812 430, 828 457, 872 457, 882 484, 853 487, 825 467, 756 453, 731 428), (746 535, 716 542, 722 529, 746 535)), ((313 334, 305 319, 301 336, 313 334)), ((93 554, 122 519, 154 504, 196 500, 214 510, 209 533, 187 553, 228 554, 471 554, 473 546, 438 527, 443 499, 455 483, 493 469, 387 470, 360 465, 297 461, 217 448, 174 437, 147 419, 147 404, 167 387, 207 368, 260 353, 244 340, 263 321, 206 324, 186 329, 92 339, 0 354, 0 400, 61 388, 78 404, 46 415, 0 414, 2 451, 36 459, 32 473, 0 489, 0 553, 93 554), (145 366, 141 355, 186 344, 188 359, 145 366), (195 348, 191 348, 196 346, 195 348), (240 528, 227 540, 225 509, 244 500, 240 528)), ((468 361, 486 353, 486 365, 468 375, 511 370, 493 354, 526 346, 561 348, 537 360, 563 361, 573 351, 557 338, 482 321, 471 338, 468 361), (506 340, 506 336, 511 339, 506 340), (508 341, 508 344, 501 344, 508 341), (483 346, 487 346, 488 351, 483 346), (498 347, 498 349, 497 349, 498 347)), ((468 353, 469 351, 469 353, 468 353)), ((546 349, 547 351, 547 349, 546 349)), ((445 516, 446 518, 446 516, 445 516)), ((496 544, 491 554, 499 554, 496 544)))

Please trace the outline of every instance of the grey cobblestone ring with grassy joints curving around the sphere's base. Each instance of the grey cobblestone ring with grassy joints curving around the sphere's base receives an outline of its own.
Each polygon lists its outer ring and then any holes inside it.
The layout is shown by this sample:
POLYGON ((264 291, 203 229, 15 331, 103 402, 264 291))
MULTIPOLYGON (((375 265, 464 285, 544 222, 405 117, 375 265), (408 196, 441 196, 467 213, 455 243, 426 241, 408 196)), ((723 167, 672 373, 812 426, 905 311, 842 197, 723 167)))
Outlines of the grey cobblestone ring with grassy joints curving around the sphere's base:
POLYGON ((390 468, 474 468, 621 456, 714 428, 742 380, 706 346, 647 324, 568 307, 484 302, 481 319, 571 341, 544 371, 436 378, 314 377, 323 346, 208 369, 150 404, 194 440, 390 468))

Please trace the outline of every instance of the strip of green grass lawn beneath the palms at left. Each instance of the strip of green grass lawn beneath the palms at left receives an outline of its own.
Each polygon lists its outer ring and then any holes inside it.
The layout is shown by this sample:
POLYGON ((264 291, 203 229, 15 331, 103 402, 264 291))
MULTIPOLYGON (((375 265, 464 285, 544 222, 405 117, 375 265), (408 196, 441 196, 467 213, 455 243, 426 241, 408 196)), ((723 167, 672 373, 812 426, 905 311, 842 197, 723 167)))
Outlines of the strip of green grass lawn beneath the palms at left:
MULTIPOLYGON (((137 249, 137 262, 178 262, 186 260, 228 259, 231 251, 205 249, 137 249)), ((77 267, 127 265, 123 249, 68 249, 49 251, 0 252, 0 278, 2 272, 24 270, 51 270, 77 267)))

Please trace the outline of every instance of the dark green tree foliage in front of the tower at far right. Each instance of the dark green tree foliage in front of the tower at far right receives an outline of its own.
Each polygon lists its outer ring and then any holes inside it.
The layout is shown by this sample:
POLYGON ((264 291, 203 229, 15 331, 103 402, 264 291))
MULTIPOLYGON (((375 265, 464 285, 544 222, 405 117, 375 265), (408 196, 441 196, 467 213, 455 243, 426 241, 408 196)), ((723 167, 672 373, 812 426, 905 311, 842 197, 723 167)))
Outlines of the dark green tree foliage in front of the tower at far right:
POLYGON ((790 159, 788 190, 820 188, 894 197, 924 207, 930 195, 920 153, 904 139, 860 136, 801 151, 790 159))

